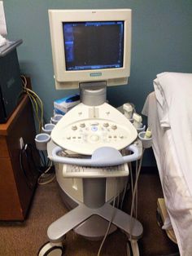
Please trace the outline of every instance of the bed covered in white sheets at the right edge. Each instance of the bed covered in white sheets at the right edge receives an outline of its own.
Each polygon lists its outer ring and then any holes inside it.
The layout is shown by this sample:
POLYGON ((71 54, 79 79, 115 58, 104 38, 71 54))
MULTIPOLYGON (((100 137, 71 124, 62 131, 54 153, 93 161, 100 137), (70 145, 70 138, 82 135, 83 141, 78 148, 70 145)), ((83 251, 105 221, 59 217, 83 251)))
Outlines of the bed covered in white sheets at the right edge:
MULTIPOLYGON (((161 73, 142 113, 181 256, 192 255, 192 74, 161 73)), ((166 220, 168 226, 168 219, 166 220)))

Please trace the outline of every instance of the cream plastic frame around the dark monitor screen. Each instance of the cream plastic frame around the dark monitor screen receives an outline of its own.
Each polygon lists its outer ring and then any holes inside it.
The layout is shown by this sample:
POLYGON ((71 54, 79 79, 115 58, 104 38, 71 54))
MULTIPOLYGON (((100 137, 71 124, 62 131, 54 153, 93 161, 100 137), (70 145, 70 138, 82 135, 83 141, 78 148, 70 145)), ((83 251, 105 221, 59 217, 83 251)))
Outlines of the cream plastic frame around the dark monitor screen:
MULTIPOLYGON (((131 14, 130 9, 106 9, 106 10, 49 10, 50 40, 52 46, 55 82, 91 82, 108 81, 130 75, 131 56, 131 14), (63 41, 63 22, 85 21, 124 21, 124 56, 122 68, 103 68, 95 70, 68 71, 65 66, 65 50, 63 41)), ((124 79, 126 82, 126 79, 124 79)), ((74 87, 74 86, 73 86, 74 87)))

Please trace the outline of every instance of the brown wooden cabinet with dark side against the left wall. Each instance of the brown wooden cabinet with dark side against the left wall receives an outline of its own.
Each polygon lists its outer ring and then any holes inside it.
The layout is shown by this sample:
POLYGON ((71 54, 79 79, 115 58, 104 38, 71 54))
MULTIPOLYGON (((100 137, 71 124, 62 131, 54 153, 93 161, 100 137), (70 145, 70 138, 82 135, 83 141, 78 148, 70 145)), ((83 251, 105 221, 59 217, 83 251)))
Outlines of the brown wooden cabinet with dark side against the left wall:
POLYGON ((21 168, 20 138, 34 146, 35 135, 32 106, 25 95, 7 123, 0 124, 0 220, 22 221, 28 213, 37 170, 31 170, 33 165, 21 168))

